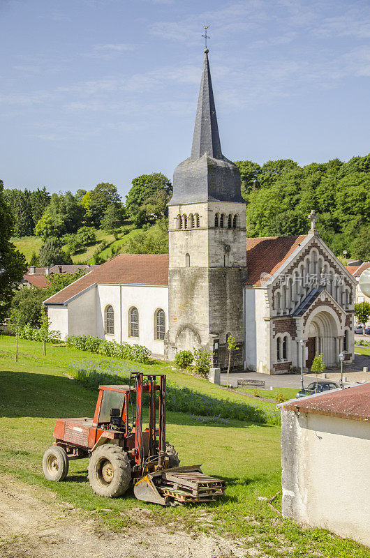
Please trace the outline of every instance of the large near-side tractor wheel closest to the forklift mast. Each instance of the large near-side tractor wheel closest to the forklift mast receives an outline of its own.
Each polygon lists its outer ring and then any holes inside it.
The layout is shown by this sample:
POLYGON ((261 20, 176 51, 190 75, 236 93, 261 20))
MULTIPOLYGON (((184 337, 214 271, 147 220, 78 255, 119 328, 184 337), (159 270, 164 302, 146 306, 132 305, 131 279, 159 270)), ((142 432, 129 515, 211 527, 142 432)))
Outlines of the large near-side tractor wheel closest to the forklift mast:
POLYGON ((131 462, 124 448, 104 444, 89 459, 88 477, 98 496, 117 498, 124 495, 131 483, 131 462))

